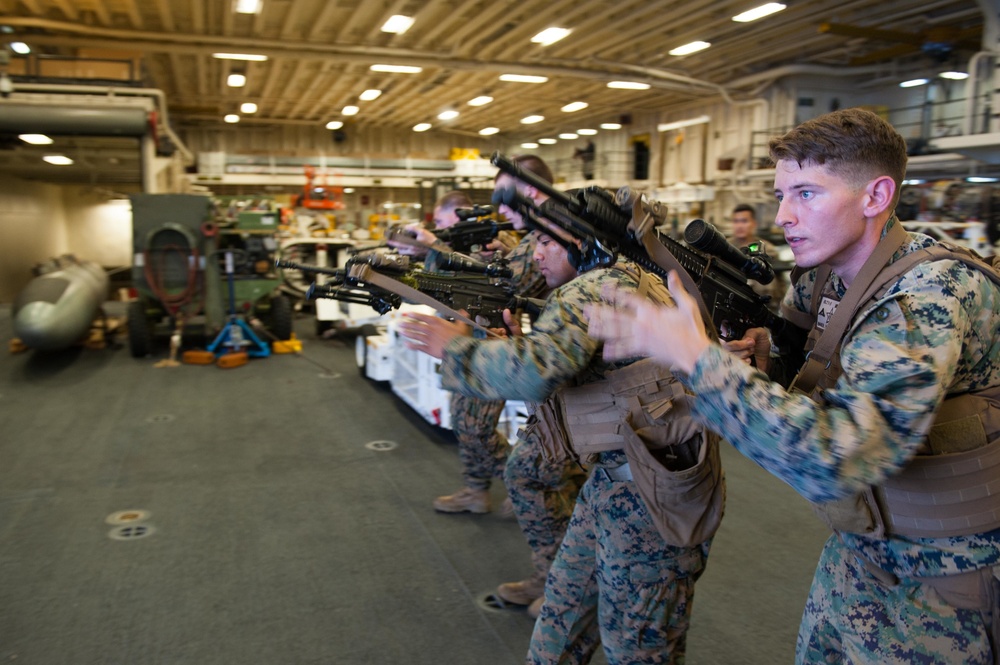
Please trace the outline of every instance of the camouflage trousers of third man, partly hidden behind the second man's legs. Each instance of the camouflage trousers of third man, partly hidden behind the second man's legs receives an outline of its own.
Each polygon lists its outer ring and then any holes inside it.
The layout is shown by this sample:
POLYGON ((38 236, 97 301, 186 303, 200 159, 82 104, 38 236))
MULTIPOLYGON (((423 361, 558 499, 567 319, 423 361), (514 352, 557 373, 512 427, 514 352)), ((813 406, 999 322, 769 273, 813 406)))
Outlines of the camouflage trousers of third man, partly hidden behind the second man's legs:
POLYGON ((531 562, 545 575, 587 474, 574 460, 549 459, 537 434, 530 432, 511 449, 503 479, 517 524, 531 548, 531 562))

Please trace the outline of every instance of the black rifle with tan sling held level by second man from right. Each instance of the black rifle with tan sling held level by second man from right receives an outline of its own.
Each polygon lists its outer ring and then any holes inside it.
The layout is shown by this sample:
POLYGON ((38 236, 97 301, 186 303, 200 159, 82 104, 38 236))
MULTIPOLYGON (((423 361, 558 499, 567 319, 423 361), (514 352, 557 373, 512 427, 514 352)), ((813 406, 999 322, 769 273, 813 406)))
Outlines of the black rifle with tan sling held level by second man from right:
MULTIPOLYGON (((279 268, 330 275, 324 284, 313 284, 306 292, 310 300, 332 298, 372 307, 379 314, 398 309, 404 302, 427 304, 438 309, 465 310, 472 321, 485 321, 486 328, 502 328, 505 309, 524 309, 537 315, 543 301, 516 295, 509 282, 506 261, 483 263, 453 253, 438 266, 450 272, 427 272, 411 266, 399 254, 359 254, 344 268, 321 268, 278 261, 279 268)), ((448 312, 449 314, 451 312, 448 312)), ((457 318, 457 317, 456 317, 457 318)))

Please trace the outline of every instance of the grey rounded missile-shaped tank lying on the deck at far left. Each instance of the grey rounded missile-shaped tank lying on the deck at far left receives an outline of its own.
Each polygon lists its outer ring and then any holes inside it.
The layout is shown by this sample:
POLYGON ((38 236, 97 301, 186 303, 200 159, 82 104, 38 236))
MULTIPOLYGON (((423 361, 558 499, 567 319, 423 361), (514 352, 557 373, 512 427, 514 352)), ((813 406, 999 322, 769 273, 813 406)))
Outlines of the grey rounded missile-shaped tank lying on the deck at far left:
POLYGON ((65 349, 90 332, 107 296, 108 275, 92 261, 62 256, 17 294, 14 334, 39 351, 65 349))

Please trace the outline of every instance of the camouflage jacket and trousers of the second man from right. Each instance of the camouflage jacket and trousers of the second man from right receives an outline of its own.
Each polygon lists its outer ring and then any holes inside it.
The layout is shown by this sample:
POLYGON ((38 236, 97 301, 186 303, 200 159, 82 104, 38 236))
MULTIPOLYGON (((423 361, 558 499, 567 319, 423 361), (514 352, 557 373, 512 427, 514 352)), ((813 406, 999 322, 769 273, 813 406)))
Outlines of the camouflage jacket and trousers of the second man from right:
MULTIPOLYGON (((549 296, 527 335, 453 340, 442 385, 484 399, 541 402, 560 387, 600 380, 613 366, 587 335, 583 309, 600 301, 606 286, 637 284, 621 270, 591 270, 549 296)), ((623 452, 604 455, 615 454, 624 459, 623 452)), ((668 547, 632 481, 591 474, 549 572, 527 662, 587 662, 598 640, 611 665, 683 662, 694 581, 707 553, 708 543, 668 547)))

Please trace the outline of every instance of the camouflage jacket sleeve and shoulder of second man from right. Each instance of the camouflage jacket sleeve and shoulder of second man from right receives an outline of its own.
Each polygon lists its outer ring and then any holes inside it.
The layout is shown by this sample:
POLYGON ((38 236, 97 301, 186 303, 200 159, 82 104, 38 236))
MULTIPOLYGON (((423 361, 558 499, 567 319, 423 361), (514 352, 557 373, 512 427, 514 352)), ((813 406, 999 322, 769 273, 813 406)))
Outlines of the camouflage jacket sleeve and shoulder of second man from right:
POLYGON ((605 284, 635 289, 621 270, 591 270, 555 289, 531 332, 507 340, 460 337, 444 350, 441 386, 473 397, 542 402, 569 382, 582 385, 611 369, 600 342, 587 335, 583 308, 605 284))

